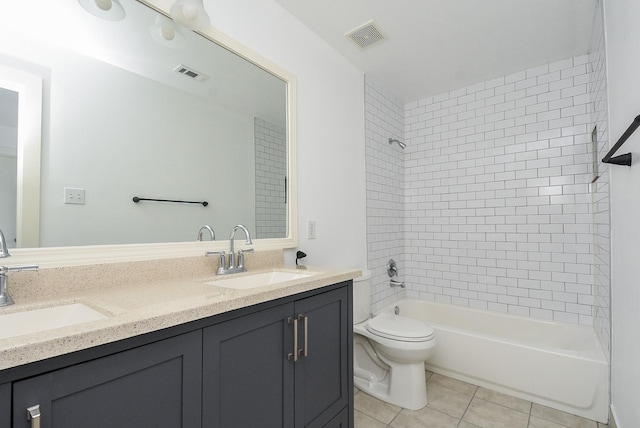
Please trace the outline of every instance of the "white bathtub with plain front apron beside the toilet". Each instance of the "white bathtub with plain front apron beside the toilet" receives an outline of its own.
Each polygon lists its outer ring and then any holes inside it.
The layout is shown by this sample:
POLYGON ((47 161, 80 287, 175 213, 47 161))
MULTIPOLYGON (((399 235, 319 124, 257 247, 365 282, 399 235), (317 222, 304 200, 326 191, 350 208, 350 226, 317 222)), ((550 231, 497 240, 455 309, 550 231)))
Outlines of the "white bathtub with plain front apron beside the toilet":
POLYGON ((607 422, 609 365, 588 326, 406 299, 383 308, 427 322, 427 370, 607 422))

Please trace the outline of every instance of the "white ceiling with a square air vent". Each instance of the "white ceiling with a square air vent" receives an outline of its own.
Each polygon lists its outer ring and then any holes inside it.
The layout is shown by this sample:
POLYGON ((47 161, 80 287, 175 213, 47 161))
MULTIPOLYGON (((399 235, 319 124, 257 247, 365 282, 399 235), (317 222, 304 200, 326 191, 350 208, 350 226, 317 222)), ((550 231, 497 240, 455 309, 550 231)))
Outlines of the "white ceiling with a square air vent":
POLYGON ((410 102, 588 53, 597 0, 276 0, 410 102), (385 40, 346 33, 373 20, 385 40))

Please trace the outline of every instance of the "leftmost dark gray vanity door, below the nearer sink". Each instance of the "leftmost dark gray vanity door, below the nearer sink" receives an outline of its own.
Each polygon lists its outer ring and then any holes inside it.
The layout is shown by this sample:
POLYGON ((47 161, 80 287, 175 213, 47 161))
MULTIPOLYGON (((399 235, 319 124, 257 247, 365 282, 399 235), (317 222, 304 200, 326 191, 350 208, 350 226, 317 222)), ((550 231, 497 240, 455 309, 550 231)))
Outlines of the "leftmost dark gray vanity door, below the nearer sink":
POLYGON ((56 370, 14 383, 13 426, 198 428, 201 371, 200 331, 56 370))

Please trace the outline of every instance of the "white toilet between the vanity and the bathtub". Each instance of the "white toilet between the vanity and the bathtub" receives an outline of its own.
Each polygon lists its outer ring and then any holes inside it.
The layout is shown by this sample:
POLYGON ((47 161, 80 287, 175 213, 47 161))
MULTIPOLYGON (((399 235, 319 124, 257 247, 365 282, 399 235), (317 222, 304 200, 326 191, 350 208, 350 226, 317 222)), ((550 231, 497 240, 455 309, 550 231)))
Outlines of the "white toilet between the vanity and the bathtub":
POLYGON ((427 404, 424 362, 436 345, 426 323, 394 313, 370 317, 371 273, 353 280, 354 384, 373 397, 418 410, 427 404))

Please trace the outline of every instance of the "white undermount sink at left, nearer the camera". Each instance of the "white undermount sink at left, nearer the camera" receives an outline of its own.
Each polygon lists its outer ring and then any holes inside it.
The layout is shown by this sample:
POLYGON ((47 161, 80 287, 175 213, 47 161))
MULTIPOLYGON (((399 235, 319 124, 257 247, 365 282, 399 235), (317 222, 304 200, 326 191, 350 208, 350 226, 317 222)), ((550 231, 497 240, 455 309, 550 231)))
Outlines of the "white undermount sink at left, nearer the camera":
POLYGON ((14 312, 0 315, 0 339, 97 321, 106 317, 82 303, 14 312))

